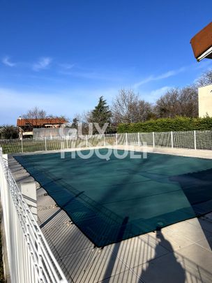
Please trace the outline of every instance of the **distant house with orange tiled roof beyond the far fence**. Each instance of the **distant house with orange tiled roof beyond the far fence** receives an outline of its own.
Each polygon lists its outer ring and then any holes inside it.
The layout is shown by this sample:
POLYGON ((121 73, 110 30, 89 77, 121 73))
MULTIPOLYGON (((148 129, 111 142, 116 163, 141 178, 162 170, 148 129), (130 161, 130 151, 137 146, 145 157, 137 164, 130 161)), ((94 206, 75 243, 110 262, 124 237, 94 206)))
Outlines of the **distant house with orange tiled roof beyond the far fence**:
POLYGON ((67 121, 64 118, 44 118, 44 119, 23 119, 19 117, 17 119, 17 126, 20 132, 20 138, 22 137, 32 137, 33 129, 39 128, 60 128, 61 125, 65 124, 67 121))

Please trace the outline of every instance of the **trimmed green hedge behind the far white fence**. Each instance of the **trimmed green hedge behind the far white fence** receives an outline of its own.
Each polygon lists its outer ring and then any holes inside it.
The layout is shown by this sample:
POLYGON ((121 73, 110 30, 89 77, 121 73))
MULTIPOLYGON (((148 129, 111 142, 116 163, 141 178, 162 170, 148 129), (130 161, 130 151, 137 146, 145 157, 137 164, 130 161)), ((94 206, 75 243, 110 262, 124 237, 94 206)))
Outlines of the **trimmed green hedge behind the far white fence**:
POLYGON ((118 133, 149 133, 152 131, 207 131, 212 130, 212 117, 204 118, 161 118, 146 122, 119 124, 118 133))

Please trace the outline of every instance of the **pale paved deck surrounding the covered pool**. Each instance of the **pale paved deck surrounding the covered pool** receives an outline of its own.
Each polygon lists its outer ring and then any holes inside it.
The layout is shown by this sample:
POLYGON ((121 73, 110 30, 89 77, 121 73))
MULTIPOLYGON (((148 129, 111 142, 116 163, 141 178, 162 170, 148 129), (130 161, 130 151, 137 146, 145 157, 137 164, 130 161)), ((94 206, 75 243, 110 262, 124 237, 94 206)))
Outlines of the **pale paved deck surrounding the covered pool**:
MULTIPOLYGON (((150 147, 147 151, 212 159, 209 150, 150 147)), ((34 182, 12 156, 8 161, 19 186, 34 182)), ((37 183, 38 224, 69 282, 211 282, 212 213, 93 249, 93 243, 45 192, 37 183)))

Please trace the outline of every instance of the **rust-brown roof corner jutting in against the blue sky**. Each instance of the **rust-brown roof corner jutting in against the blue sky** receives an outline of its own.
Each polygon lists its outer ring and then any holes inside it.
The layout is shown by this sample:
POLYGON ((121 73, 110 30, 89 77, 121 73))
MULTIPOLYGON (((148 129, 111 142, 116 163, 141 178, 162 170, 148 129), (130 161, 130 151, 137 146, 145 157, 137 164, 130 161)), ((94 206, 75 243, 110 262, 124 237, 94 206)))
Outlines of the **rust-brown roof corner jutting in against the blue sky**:
POLYGON ((212 59, 212 22, 192 37, 190 44, 197 61, 212 59))

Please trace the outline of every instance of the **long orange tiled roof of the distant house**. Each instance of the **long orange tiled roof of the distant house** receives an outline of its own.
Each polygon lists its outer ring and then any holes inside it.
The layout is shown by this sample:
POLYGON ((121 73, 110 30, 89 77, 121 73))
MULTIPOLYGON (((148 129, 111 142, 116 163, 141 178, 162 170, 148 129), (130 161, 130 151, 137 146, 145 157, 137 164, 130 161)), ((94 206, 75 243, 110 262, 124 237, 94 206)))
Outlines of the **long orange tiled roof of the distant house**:
POLYGON ((45 119, 17 119, 17 126, 43 126, 44 124, 64 124, 64 118, 45 118, 45 119))

